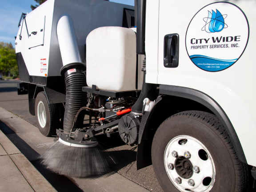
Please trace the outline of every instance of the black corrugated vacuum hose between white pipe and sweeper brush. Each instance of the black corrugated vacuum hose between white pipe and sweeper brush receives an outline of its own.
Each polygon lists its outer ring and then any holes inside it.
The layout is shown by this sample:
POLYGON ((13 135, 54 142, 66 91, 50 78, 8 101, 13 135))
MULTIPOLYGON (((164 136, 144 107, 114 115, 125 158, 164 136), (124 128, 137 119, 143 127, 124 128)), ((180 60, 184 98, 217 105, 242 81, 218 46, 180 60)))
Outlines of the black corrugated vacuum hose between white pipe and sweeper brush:
MULTIPOLYGON (((82 91, 82 88, 87 86, 86 77, 83 73, 85 70, 86 66, 83 63, 72 63, 61 68, 61 75, 65 77, 66 84, 66 105, 63 125, 65 134, 70 133, 76 113, 87 104, 87 94, 82 91)), ((76 128, 82 128, 84 114, 85 111, 80 112, 73 131, 76 128)))

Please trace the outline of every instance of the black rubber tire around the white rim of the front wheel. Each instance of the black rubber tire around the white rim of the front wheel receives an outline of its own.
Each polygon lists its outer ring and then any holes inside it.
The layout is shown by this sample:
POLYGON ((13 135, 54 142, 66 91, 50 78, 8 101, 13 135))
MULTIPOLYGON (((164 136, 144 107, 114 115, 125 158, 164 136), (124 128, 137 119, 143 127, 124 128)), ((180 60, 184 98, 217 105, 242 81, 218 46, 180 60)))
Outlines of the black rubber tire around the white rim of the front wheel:
POLYGON ((180 192, 167 174, 166 165, 164 166, 164 152, 173 138, 183 135, 199 140, 212 156, 216 168, 216 180, 211 192, 248 190, 248 165, 238 159, 232 141, 220 120, 208 112, 186 111, 165 120, 157 129, 153 139, 152 164, 165 192, 180 192))

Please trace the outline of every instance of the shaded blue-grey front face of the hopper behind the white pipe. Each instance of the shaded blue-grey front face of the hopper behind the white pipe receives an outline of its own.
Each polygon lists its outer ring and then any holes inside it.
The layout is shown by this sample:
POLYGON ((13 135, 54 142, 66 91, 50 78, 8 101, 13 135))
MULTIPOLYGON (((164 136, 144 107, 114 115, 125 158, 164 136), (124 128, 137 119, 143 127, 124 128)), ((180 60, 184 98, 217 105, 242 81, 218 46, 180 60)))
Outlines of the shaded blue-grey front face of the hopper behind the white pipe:
POLYGON ((84 45, 86 44, 88 34, 99 27, 121 27, 124 8, 134 9, 130 5, 104 0, 55 0, 50 45, 49 76, 60 76, 60 70, 56 71, 56 68, 63 66, 56 32, 61 15, 67 13, 72 18, 81 60, 84 62, 84 45))

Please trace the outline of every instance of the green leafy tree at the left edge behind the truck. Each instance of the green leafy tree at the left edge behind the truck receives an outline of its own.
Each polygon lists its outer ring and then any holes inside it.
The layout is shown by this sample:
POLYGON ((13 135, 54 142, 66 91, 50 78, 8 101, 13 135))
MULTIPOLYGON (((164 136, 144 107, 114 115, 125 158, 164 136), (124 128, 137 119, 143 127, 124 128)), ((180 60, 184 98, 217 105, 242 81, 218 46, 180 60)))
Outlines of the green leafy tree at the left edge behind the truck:
POLYGON ((11 75, 18 76, 19 72, 15 70, 18 68, 15 49, 11 43, 0 42, 0 72, 8 74, 12 68, 11 75))

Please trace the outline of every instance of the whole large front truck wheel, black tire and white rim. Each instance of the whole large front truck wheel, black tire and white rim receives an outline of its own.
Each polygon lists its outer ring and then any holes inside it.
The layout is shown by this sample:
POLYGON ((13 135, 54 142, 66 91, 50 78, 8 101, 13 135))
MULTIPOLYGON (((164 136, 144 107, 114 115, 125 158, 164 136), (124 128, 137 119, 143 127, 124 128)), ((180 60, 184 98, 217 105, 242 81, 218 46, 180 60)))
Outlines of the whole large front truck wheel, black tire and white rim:
POLYGON ((165 120, 153 139, 152 163, 165 192, 247 191, 247 164, 238 160, 220 120, 207 112, 165 120))

